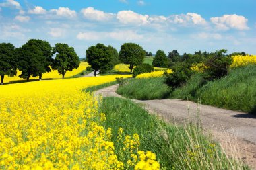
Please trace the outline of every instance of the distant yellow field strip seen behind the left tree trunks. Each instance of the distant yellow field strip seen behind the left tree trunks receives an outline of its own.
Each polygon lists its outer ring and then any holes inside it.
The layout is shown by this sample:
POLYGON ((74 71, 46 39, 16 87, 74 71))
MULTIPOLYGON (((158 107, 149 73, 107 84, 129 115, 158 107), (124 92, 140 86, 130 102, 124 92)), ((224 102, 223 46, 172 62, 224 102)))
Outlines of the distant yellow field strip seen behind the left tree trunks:
MULTIPOLYGON (((65 77, 72 77, 73 75, 77 75, 82 71, 86 70, 86 67, 88 67, 88 63, 81 62, 77 69, 73 69, 73 71, 67 71, 65 77)), ((5 79, 3 79, 3 83, 10 83, 11 81, 23 80, 22 78, 19 77, 21 73, 22 73, 21 71, 17 71, 17 75, 14 77, 8 77, 7 75, 5 75, 5 79)), ((44 73, 42 75, 42 79, 61 79, 61 78, 62 78, 62 75, 60 75, 56 70, 52 70, 51 72, 44 73)), ((30 77, 30 79, 39 79, 39 77, 30 77)))

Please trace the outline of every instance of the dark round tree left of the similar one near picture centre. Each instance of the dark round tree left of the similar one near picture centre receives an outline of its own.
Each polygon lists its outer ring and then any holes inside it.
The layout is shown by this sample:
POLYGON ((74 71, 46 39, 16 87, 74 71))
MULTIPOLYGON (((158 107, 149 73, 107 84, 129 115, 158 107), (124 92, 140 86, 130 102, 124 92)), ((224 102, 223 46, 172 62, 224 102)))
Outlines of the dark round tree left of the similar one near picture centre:
POLYGON ((86 50, 86 60, 94 69, 94 76, 101 69, 104 71, 113 69, 114 59, 116 59, 114 49, 112 46, 107 47, 104 44, 98 43, 96 46, 90 46, 86 50))

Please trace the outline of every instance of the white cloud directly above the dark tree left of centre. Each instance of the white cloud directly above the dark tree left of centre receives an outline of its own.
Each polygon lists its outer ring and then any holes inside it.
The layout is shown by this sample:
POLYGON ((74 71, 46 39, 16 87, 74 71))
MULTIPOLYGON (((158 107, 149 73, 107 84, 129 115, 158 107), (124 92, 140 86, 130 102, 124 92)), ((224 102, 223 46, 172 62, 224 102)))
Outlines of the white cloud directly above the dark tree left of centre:
POLYGON ((113 13, 104 13, 104 11, 99 11, 93 7, 84 8, 81 10, 81 13, 86 19, 94 21, 108 21, 113 18, 113 13))

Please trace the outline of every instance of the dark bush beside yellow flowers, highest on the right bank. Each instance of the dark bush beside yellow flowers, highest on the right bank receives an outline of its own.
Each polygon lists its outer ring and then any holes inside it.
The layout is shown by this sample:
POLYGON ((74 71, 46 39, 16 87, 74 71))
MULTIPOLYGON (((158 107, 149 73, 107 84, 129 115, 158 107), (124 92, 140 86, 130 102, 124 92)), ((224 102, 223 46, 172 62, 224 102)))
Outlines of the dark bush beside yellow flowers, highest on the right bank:
POLYGON ((214 80, 228 75, 228 67, 232 64, 232 58, 224 55, 226 51, 216 51, 205 61, 204 79, 214 80))

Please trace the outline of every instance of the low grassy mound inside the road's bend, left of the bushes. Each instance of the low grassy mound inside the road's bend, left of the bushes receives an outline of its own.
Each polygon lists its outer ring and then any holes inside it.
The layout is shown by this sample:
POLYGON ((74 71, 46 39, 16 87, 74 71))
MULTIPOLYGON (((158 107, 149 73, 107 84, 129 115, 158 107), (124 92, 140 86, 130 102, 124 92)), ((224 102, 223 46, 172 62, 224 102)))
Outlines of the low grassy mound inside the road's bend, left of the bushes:
POLYGON ((119 86, 117 93, 130 99, 166 99, 170 90, 164 84, 164 77, 150 79, 129 79, 119 86))

